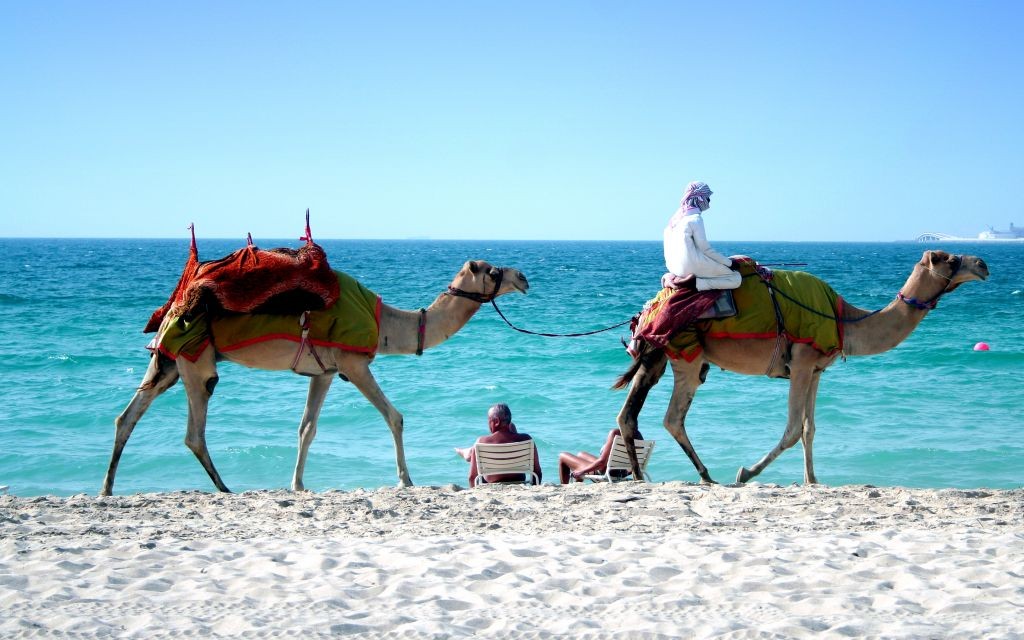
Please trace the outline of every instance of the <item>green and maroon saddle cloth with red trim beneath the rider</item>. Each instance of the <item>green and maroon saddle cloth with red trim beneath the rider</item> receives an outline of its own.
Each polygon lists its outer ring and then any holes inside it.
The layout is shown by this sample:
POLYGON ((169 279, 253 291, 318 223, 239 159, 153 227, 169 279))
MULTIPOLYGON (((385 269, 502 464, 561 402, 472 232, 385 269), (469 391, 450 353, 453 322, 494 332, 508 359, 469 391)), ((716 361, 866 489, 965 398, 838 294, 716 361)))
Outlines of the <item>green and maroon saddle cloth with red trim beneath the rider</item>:
MULTIPOLYGON (((804 271, 775 269, 769 272, 753 260, 743 262, 739 271, 743 276, 742 285, 732 290, 736 315, 691 322, 682 329, 676 325, 674 332, 669 331, 672 337, 664 347, 670 358, 693 361, 700 355, 702 341, 707 338, 764 340, 774 339, 780 332, 791 342, 811 344, 825 354, 842 350, 843 325, 836 318, 842 317, 843 299, 831 287, 804 271), (775 289, 781 327, 768 292, 769 284, 775 289)), ((682 293, 685 292, 663 290, 648 305, 653 305, 659 297, 671 299, 672 295, 682 293)), ((662 306, 665 307, 665 303, 662 306)), ((642 314, 640 322, 645 319, 650 322, 653 317, 642 314)), ((665 333, 666 330, 660 331, 665 333)))

